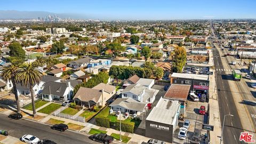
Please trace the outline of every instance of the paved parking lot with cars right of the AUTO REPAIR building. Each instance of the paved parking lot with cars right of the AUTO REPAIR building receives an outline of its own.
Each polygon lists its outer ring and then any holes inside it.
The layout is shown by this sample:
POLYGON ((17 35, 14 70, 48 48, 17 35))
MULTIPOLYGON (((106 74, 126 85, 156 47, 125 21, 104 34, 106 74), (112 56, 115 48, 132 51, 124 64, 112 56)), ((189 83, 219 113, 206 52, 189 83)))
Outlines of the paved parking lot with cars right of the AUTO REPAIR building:
POLYGON ((203 116, 199 114, 199 108, 201 106, 205 106, 207 112, 207 102, 200 102, 200 101, 191 101, 190 99, 187 100, 186 112, 183 120, 188 119, 190 121, 190 126, 188 128, 187 136, 188 139, 181 140, 178 139, 179 129, 183 126, 184 121, 179 120, 179 124, 177 129, 174 132, 174 142, 175 143, 187 143, 192 140, 194 130, 199 129, 201 130, 201 142, 205 143, 204 134, 207 133, 206 130, 202 130, 202 124, 207 122, 207 113, 203 116))

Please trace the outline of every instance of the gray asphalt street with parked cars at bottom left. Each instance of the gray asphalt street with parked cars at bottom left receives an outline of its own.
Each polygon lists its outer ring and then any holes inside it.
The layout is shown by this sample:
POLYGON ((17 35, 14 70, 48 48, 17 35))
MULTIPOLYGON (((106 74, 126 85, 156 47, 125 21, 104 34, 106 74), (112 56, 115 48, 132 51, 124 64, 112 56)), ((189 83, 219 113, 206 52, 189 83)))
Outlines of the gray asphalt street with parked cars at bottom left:
POLYGON ((90 140, 87 135, 69 130, 60 132, 52 130, 50 127, 27 119, 11 119, 4 114, 0 114, 0 129, 7 130, 12 137, 21 138, 25 134, 31 134, 39 139, 48 139, 61 144, 98 143, 90 140))

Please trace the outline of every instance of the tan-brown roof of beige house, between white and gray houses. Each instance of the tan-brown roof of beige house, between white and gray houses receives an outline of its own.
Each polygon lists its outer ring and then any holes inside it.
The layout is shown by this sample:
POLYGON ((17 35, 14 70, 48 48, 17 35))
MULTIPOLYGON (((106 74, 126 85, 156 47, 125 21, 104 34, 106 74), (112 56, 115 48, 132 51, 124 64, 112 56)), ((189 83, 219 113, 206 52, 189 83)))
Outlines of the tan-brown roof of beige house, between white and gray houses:
POLYGON ((87 87, 80 87, 73 99, 79 99, 81 101, 91 100, 97 103, 101 95, 102 95, 101 90, 90 89, 87 87))

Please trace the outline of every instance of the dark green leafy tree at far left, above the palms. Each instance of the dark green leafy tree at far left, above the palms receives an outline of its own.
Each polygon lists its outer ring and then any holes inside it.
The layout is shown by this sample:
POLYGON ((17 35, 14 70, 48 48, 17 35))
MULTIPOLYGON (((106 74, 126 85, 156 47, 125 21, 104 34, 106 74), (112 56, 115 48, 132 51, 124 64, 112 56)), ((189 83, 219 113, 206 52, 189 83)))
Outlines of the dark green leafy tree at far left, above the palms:
POLYGON ((17 42, 14 42, 9 45, 10 49, 10 56, 16 57, 18 59, 25 60, 25 54, 26 52, 22 49, 21 45, 17 42))

